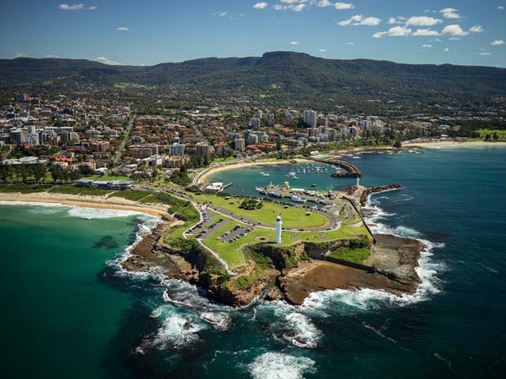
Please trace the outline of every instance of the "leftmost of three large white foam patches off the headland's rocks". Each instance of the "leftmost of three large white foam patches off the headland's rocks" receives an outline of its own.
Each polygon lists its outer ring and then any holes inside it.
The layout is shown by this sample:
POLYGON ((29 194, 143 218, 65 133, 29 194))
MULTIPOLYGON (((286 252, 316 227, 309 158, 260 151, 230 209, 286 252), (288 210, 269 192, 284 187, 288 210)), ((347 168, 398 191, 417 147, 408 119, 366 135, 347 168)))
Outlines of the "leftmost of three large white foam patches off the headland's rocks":
POLYGON ((197 332, 202 330, 202 325, 190 321, 179 314, 167 317, 158 329, 153 345, 160 349, 179 349, 200 340, 197 332))

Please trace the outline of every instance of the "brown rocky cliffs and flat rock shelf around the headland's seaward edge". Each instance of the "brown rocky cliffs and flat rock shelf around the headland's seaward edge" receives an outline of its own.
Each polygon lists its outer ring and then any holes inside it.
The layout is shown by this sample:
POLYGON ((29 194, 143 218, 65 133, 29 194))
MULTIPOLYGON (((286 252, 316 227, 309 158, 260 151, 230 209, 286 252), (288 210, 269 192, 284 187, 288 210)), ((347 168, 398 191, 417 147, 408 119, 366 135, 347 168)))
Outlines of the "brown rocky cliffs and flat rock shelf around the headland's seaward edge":
POLYGON ((145 236, 123 263, 124 269, 150 271, 161 266, 168 278, 204 288, 208 297, 233 307, 247 305, 261 295, 266 300, 285 298, 292 304, 301 304, 312 292, 336 288, 375 288, 400 295, 413 292, 420 283, 415 267, 424 246, 410 238, 377 235, 372 254, 361 268, 325 259, 335 248, 363 248, 370 243, 368 240, 305 242, 291 246, 260 243, 249 249, 252 255, 264 257, 261 269, 250 260, 242 266, 240 276, 229 276, 221 266, 209 261, 209 254, 192 240, 180 241, 179 245, 175 241, 176 248, 164 244, 160 238, 163 231, 157 229, 145 236), (372 267, 374 270, 369 269, 372 267))

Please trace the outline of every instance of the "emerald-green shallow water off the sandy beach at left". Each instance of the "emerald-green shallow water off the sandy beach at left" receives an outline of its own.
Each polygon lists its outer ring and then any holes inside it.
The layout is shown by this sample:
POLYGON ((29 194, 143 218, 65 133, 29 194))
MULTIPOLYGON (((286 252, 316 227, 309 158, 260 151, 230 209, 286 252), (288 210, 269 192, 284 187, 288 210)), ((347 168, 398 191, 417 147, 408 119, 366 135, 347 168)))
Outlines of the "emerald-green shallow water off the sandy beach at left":
POLYGON ((109 349, 134 299, 108 283, 105 262, 135 230, 133 216, 82 219, 61 207, 0 207, 3 378, 105 378, 109 368, 125 377, 109 349), (100 244, 104 236, 108 246, 100 244))

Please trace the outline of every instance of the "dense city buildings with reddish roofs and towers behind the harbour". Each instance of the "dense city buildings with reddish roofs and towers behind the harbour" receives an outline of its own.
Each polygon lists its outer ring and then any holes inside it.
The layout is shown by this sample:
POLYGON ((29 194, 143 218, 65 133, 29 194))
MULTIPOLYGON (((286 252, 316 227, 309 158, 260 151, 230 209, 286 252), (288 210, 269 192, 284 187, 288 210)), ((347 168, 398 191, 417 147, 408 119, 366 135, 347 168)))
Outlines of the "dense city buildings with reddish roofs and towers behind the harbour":
MULTIPOLYGON (((42 146, 44 157, 35 158, 43 159, 44 165, 86 173, 116 167, 124 174, 134 174, 141 169, 178 169, 202 165, 215 157, 264 155, 313 143, 384 134, 423 137, 458 130, 441 120, 392 122, 375 116, 325 115, 315 110, 301 113, 293 109, 264 112, 247 107, 228 112, 235 113, 228 118, 223 116, 223 108, 213 108, 206 113, 195 110, 167 116, 137 115, 131 122, 130 106, 112 99, 43 99, 18 94, 0 112, 0 148, 10 145, 26 154, 42 146), (242 113, 249 114, 249 123, 239 121, 245 120, 242 113)), ((6 163, 32 164, 30 159, 23 159, 6 163)))

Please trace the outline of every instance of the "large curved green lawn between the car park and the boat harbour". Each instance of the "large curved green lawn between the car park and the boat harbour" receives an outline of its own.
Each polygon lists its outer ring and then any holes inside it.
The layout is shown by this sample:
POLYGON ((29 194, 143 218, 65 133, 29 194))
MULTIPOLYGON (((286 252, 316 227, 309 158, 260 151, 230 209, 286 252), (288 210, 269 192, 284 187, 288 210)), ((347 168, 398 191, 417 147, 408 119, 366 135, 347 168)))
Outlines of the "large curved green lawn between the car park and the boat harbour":
POLYGON ((242 203, 241 199, 231 198, 225 200, 225 198, 220 198, 219 196, 195 195, 195 200, 200 200, 201 202, 210 201, 215 207, 231 212, 238 217, 244 217, 247 220, 272 226, 274 226, 275 219, 280 213, 283 214, 283 226, 285 228, 316 228, 329 224, 329 221, 321 214, 309 210, 301 210, 297 207, 285 209, 284 205, 263 202, 264 206, 259 210, 242 210, 239 208, 240 203, 242 203), (310 213, 309 216, 306 215, 308 212, 310 213))

